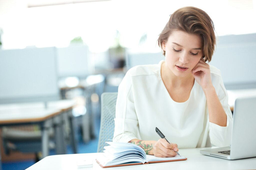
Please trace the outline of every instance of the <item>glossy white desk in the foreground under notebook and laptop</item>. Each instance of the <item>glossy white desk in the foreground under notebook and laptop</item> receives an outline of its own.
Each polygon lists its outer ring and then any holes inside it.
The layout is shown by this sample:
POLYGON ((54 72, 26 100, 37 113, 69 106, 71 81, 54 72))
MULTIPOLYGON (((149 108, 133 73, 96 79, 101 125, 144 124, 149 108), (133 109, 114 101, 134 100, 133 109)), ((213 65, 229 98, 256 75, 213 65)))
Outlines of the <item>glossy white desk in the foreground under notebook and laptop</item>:
MULTIPOLYGON (((179 153, 187 157, 186 161, 152 163, 145 165, 120 166, 112 168, 104 168, 106 170, 119 169, 256 169, 256 157, 240 160, 225 160, 212 156, 201 155, 199 150, 205 148, 180 149, 179 153)), ((78 170, 103 169, 97 164, 95 159, 102 153, 86 153, 86 154, 68 154, 68 155, 52 155, 47 156, 36 164, 30 166, 26 170, 70 170, 78 169, 77 161, 86 159, 93 160, 93 167, 79 168, 78 170)))

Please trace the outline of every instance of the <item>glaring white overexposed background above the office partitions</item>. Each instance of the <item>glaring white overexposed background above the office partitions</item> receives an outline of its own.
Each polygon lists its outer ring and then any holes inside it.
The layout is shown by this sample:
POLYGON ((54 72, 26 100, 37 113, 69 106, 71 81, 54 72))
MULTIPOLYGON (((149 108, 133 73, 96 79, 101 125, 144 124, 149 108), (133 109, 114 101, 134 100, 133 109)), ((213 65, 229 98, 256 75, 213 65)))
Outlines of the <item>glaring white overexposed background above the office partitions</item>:
POLYGON ((122 46, 158 52, 158 35, 169 15, 178 8, 195 6, 206 11, 214 21, 218 36, 247 34, 256 32, 255 2, 111 0, 28 8, 28 1, 2 0, 2 49, 65 47, 73 38, 81 36, 91 52, 103 52, 115 44, 118 30, 122 46), (139 44, 143 34, 147 34, 147 39, 139 44))

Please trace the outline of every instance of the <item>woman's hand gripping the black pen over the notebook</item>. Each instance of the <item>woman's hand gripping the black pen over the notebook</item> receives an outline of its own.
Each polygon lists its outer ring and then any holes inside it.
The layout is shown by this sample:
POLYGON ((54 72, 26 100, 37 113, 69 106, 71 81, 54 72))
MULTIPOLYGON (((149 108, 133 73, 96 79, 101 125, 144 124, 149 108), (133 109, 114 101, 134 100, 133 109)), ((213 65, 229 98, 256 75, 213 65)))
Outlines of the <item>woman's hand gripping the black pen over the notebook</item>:
POLYGON ((157 157, 174 157, 178 151, 178 145, 176 143, 168 143, 165 139, 159 139, 153 146, 151 152, 152 155, 157 157))

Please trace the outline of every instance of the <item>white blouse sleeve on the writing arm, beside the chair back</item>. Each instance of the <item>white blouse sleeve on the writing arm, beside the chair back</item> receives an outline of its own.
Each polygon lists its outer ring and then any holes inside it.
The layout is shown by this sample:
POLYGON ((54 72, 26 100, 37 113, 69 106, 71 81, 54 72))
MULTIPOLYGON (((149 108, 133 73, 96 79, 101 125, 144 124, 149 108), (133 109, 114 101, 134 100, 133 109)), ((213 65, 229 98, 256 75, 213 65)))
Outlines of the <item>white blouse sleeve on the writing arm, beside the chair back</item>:
POLYGON ((114 142, 129 142, 138 138, 138 118, 134 107, 130 70, 118 87, 114 121, 114 142))

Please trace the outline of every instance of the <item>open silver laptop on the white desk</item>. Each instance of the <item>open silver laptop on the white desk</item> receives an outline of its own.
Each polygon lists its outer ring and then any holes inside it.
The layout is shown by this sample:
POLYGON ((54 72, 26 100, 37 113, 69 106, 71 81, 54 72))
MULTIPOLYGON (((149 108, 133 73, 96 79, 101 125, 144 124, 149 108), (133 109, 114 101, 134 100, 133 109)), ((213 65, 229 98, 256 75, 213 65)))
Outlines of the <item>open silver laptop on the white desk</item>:
POLYGON ((201 154, 228 160, 256 157, 256 96, 238 98, 233 112, 229 147, 200 150, 201 154))

